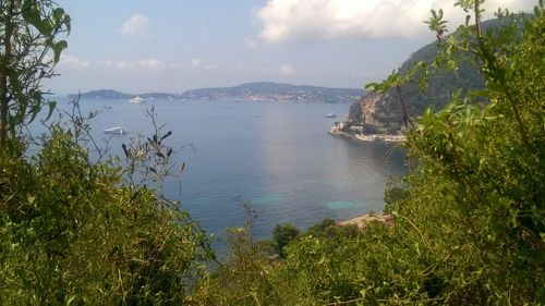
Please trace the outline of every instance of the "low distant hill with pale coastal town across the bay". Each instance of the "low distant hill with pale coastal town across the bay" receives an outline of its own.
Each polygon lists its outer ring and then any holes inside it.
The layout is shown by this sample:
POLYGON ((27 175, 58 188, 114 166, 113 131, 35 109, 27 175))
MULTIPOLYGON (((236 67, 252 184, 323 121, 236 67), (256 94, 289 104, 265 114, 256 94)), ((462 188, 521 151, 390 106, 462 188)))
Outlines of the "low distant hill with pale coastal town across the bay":
POLYGON ((194 100, 274 100, 296 102, 353 102, 365 91, 356 88, 327 88, 271 82, 247 83, 234 87, 191 89, 183 99, 194 100))

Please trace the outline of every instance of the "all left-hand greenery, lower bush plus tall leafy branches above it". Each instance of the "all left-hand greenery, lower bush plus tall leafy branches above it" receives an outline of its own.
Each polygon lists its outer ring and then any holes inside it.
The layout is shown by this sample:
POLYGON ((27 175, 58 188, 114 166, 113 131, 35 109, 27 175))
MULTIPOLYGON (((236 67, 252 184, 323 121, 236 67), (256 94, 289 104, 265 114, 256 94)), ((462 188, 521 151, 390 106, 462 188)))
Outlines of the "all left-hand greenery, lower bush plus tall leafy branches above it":
POLYGON ((134 145, 154 158, 128 155, 122 169, 92 161, 88 123, 75 112, 26 157, 23 127, 55 108, 40 82, 55 75, 70 16, 47 0, 0 7, 0 304, 183 304, 214 257, 207 237, 178 203, 135 180, 168 173, 172 150, 161 142, 171 132, 153 121, 155 135, 134 145))

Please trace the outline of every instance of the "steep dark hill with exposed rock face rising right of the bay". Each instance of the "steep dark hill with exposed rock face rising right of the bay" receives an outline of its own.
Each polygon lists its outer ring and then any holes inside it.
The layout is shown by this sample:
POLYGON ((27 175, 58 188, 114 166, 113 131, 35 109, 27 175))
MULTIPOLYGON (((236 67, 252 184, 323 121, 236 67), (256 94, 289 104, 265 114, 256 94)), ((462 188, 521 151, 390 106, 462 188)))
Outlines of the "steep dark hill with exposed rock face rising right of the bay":
MULTIPOLYGON (((502 22, 506 20, 491 20, 484 22, 483 26, 489 28, 502 22)), ((399 70, 405 72, 417 61, 431 62, 436 54, 437 41, 434 41, 412 53, 399 70)), ((456 74, 438 72, 431 75, 428 87, 423 95, 419 91, 417 77, 402 85, 401 93, 407 103, 408 114, 414 120, 428 107, 436 110, 443 109, 458 88, 462 88, 461 95, 463 96, 470 90, 483 87, 484 79, 481 73, 471 61, 465 60, 462 61, 456 74)), ((365 95, 351 106, 347 121, 350 124, 346 126, 363 125, 363 132, 366 134, 395 134, 399 132, 403 127, 403 119, 398 93, 390 89, 380 95, 373 93, 365 95)))

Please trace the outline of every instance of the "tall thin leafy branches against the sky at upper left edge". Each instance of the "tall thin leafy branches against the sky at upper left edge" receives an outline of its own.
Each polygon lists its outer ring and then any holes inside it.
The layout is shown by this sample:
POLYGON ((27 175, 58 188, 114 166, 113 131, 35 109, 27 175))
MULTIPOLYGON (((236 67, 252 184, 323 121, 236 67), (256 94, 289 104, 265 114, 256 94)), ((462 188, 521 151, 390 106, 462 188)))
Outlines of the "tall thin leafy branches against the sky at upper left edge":
MULTIPOLYGON (((55 101, 45 98, 41 81, 55 75, 71 20, 50 0, 0 1, 0 147, 15 138, 25 120, 33 121, 44 105, 49 115, 55 101)), ((13 148, 12 148, 13 150, 13 148)))

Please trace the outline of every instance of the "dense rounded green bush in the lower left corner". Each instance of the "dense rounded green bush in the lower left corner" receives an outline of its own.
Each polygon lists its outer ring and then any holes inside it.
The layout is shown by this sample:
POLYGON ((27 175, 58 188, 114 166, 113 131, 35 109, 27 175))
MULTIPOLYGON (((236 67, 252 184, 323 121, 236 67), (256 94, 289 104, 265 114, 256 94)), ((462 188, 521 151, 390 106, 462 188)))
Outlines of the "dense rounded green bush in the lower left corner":
POLYGON ((0 159, 2 305, 182 303, 209 258, 177 203, 122 185, 53 128, 32 160, 0 159))

